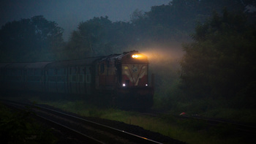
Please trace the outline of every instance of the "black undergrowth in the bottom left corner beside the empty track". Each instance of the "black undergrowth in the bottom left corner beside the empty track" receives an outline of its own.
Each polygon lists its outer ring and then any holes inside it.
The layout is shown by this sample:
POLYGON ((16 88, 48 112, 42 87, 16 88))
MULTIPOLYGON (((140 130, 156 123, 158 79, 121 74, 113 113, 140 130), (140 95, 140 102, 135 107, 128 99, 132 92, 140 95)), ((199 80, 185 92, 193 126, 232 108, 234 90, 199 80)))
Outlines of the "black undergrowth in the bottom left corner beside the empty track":
POLYGON ((50 128, 38 124, 31 115, 25 110, 13 113, 0 103, 1 143, 57 143, 50 128))

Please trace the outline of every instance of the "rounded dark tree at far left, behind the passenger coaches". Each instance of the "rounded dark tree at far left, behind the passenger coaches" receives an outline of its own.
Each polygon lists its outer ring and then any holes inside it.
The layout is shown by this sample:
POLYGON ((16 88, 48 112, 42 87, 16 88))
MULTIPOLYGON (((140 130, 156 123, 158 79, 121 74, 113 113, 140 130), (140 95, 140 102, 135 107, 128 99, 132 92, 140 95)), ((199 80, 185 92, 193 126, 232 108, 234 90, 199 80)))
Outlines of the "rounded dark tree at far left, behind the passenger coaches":
POLYGON ((63 45, 63 29, 42 15, 6 23, 0 30, 1 61, 53 59, 63 45))

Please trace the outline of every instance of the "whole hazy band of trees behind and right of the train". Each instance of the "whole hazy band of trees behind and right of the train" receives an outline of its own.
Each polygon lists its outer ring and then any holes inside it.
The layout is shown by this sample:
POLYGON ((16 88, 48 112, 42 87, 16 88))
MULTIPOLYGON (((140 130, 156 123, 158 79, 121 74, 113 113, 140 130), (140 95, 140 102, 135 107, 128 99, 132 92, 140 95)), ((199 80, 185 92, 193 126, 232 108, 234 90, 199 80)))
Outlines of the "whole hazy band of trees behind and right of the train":
POLYGON ((139 50, 155 75, 154 109, 205 113, 255 110, 255 1, 171 1, 135 10, 129 22, 108 16, 78 23, 69 39, 43 15, 0 29, 0 61, 107 56, 139 50), (218 3, 218 5, 214 4, 218 3))

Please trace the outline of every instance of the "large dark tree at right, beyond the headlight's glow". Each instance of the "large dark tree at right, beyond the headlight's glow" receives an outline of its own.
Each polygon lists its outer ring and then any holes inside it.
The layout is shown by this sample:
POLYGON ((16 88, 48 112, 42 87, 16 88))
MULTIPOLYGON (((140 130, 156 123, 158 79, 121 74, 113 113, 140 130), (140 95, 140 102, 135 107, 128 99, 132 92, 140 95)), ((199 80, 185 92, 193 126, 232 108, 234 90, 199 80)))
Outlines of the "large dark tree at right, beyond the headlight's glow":
POLYGON ((256 89, 256 28, 247 23, 244 14, 214 13, 197 26, 192 39, 194 42, 184 45, 186 53, 181 61, 182 84, 190 96, 230 99, 254 86, 247 95, 252 98, 256 89))

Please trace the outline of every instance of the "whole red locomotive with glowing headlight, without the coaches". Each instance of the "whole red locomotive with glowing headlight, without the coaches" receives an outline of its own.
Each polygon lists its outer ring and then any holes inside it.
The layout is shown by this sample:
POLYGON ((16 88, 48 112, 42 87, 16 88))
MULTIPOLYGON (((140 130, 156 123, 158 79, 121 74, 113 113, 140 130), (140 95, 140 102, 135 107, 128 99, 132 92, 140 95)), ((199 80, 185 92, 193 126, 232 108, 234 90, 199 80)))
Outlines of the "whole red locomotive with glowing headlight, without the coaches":
POLYGON ((148 83, 146 56, 135 50, 114 54, 102 58, 98 67, 97 88, 113 92, 118 106, 143 110, 153 105, 154 88, 148 83))

